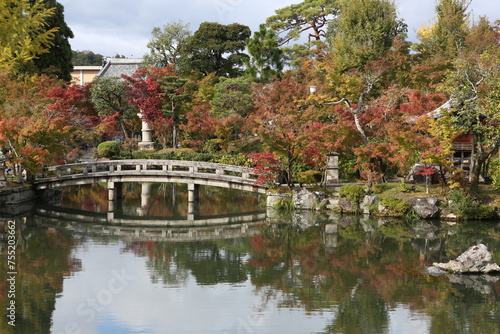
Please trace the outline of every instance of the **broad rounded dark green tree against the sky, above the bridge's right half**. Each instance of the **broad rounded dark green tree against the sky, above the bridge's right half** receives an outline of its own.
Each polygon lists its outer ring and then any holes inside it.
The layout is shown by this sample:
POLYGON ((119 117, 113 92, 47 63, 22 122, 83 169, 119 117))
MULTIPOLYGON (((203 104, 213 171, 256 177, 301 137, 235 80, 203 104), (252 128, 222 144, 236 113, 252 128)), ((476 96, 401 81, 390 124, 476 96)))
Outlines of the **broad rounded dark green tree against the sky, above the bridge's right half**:
POLYGON ((233 23, 223 25, 203 22, 181 49, 179 70, 182 73, 199 71, 203 75, 215 72, 217 76, 236 77, 242 73, 242 51, 250 37, 250 28, 233 23))

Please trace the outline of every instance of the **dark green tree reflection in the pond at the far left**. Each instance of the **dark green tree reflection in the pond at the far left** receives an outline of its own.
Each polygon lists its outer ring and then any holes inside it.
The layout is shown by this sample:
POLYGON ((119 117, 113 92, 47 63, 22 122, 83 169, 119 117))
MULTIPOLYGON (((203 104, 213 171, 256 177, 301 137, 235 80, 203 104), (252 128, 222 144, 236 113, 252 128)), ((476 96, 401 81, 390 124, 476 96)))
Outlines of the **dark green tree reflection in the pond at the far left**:
MULTIPOLYGON (((80 262, 71 257, 78 242, 69 233, 37 226, 31 220, 16 219, 16 320, 7 324, 8 298, 7 261, 0 268, 0 333, 50 333, 56 295, 62 291, 65 276, 79 271, 80 262)), ((6 256, 7 248, 2 247, 6 256)), ((6 257, 4 257, 6 258, 6 257)))

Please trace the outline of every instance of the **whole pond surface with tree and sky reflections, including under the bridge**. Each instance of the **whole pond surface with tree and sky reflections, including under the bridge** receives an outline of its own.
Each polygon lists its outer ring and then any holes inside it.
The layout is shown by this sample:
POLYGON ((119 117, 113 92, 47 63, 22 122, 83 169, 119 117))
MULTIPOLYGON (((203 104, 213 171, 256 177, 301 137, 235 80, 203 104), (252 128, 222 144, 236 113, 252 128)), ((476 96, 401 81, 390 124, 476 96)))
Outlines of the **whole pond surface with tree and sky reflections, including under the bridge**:
POLYGON ((500 333, 500 276, 425 274, 477 243, 500 262, 498 221, 266 218, 262 196, 201 187, 202 224, 150 226, 191 222, 187 187, 144 193, 124 185, 127 224, 99 220, 102 185, 2 218, 0 333, 500 333))

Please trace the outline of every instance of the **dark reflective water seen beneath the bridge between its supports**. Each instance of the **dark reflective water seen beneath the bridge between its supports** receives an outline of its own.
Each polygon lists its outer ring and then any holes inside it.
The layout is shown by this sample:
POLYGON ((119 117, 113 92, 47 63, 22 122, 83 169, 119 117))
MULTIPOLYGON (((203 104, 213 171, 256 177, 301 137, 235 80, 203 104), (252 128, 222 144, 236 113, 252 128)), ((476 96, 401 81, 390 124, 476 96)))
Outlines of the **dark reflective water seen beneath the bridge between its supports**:
MULTIPOLYGON (((106 184, 66 187, 58 206, 96 213, 115 211, 128 217, 186 218, 189 213, 187 184, 122 183, 116 197, 111 207, 106 184)), ((258 211, 262 198, 251 192, 201 186, 196 213, 206 217, 258 211)))

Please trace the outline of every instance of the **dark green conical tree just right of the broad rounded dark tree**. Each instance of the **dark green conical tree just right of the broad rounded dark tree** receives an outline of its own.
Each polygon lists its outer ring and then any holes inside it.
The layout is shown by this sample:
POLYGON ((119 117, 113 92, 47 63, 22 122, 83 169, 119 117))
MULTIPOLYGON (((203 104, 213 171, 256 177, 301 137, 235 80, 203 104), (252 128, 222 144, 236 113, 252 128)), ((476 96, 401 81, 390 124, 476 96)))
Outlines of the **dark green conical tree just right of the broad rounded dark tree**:
POLYGON ((253 38, 246 41, 250 58, 245 59, 245 74, 257 82, 269 82, 283 70, 283 50, 278 47, 276 33, 261 24, 253 38))

